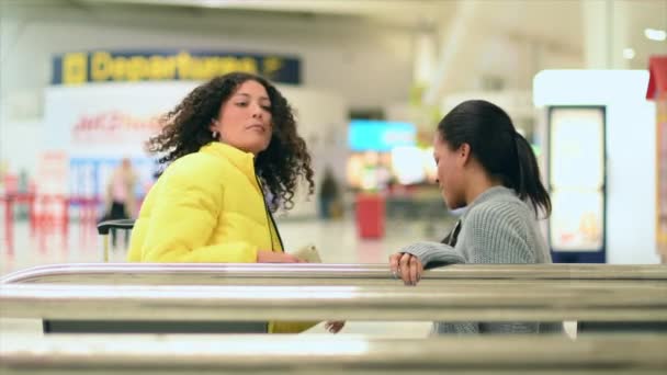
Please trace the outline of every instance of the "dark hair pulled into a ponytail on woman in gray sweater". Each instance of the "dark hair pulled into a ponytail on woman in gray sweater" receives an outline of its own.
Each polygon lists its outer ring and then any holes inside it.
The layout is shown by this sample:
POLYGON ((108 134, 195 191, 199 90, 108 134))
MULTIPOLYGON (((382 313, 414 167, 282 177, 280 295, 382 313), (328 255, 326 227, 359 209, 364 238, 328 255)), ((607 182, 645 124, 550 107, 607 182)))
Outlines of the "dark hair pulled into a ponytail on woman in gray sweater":
POLYGON ((551 198, 540 180, 535 155, 499 106, 483 100, 463 102, 442 118, 438 132, 453 150, 468 144, 472 157, 487 173, 513 189, 521 200, 530 201, 535 214, 539 208, 546 216, 551 214, 551 198))

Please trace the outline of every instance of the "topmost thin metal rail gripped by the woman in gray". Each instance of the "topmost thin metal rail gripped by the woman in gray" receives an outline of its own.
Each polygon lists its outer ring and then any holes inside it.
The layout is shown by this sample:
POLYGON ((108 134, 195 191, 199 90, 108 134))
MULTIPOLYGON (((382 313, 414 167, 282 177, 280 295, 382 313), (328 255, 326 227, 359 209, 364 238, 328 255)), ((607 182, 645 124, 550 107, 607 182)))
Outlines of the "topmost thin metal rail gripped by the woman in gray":
MULTIPOLYGON (((0 284, 221 284, 231 279, 392 280, 387 264, 65 263, 13 272, 0 284)), ((667 265, 457 264, 427 271, 425 281, 617 280, 667 281, 667 265)))

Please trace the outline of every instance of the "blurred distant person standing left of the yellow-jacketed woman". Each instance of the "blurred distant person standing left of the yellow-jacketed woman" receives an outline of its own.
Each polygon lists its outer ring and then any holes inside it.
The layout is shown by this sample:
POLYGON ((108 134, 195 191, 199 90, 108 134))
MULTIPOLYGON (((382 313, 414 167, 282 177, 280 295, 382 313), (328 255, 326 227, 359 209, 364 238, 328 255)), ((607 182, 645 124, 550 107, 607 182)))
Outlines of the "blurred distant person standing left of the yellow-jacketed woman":
MULTIPOLYGON (((135 188, 137 173, 132 167, 128 158, 123 158, 121 163, 111 173, 111 179, 106 185, 105 220, 133 218, 136 214, 135 188)), ((125 246, 127 246, 125 237, 125 246)), ((116 246, 115 230, 111 231, 111 243, 116 246)))

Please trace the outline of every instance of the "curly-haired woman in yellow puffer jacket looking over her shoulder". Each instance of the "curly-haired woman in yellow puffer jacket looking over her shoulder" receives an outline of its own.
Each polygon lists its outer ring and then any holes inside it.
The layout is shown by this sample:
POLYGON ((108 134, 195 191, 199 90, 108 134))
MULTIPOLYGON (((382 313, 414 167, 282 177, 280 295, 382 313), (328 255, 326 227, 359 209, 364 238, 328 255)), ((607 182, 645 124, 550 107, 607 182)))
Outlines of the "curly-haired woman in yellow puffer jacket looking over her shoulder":
MULTIPOLYGON (((128 261, 298 262, 284 252, 271 215, 293 206, 299 178, 314 190, 310 156, 285 98, 260 77, 234 72, 194 89, 162 121, 148 150, 162 154, 167 168, 142 205, 128 261)), ((269 329, 298 332, 312 325, 272 322, 269 329)))

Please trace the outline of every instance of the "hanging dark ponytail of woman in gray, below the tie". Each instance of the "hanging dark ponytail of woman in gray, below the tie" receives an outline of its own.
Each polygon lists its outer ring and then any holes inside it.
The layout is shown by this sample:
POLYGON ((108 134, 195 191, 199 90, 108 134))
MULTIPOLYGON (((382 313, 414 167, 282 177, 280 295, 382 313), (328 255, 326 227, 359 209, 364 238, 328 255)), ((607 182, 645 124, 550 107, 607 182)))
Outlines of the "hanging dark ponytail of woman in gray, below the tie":
POLYGON ((551 215, 551 198, 540 179, 540 168, 532 147, 519 133, 515 133, 517 147, 518 172, 511 181, 512 188, 523 201, 530 200, 535 214, 542 208, 545 216, 551 215))

